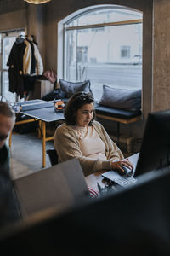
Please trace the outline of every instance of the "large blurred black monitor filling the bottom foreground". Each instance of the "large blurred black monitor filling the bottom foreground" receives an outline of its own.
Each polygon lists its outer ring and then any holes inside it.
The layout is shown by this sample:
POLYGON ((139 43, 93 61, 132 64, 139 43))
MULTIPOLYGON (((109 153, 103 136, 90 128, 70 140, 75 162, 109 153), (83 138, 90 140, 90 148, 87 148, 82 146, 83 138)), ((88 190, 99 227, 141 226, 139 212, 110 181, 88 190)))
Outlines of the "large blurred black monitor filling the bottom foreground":
POLYGON ((148 172, 127 189, 0 230, 0 247, 7 255, 170 255, 169 183, 167 168, 148 172))

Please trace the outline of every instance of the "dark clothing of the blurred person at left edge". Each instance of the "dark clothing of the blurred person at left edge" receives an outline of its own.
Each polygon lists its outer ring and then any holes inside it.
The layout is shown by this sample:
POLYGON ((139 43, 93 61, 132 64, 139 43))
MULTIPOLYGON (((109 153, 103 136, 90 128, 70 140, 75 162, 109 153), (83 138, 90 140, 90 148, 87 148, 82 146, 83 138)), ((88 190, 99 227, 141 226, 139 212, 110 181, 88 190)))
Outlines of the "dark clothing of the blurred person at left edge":
POLYGON ((0 148, 0 228, 20 219, 20 207, 9 174, 9 149, 0 148))

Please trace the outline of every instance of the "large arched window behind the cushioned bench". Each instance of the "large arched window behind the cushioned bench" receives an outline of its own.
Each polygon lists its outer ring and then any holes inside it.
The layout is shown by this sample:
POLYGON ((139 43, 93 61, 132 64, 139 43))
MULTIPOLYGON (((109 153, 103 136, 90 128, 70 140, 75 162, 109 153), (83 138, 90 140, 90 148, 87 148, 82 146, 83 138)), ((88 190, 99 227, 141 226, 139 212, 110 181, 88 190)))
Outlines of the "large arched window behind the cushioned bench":
POLYGON ((142 88, 141 12, 122 6, 86 10, 64 24, 64 79, 89 79, 96 100, 103 84, 142 88))

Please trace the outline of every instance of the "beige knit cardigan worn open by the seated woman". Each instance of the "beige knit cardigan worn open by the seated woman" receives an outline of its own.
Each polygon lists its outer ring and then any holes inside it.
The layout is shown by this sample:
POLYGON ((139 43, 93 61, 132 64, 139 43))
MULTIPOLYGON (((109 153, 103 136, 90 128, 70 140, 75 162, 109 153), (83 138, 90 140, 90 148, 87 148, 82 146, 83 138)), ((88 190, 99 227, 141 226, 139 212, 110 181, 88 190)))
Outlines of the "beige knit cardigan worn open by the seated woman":
POLYGON ((121 150, 111 140, 103 125, 97 121, 94 121, 93 125, 94 129, 99 133, 99 137, 105 143, 107 160, 101 160, 100 158, 94 160, 83 156, 80 150, 77 132, 71 125, 59 125, 54 134, 54 148, 57 150, 59 162, 77 158, 80 161, 85 176, 100 170, 111 170, 111 160, 124 158, 121 150))

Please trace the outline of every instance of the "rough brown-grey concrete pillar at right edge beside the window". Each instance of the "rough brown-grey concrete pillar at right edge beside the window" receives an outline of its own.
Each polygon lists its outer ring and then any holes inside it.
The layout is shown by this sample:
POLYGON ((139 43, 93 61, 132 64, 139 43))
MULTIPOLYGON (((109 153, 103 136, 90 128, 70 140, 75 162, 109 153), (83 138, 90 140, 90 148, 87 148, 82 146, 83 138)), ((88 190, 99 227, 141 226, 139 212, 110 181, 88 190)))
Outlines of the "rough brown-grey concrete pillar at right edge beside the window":
POLYGON ((170 1, 154 1, 152 110, 170 108, 170 1))

